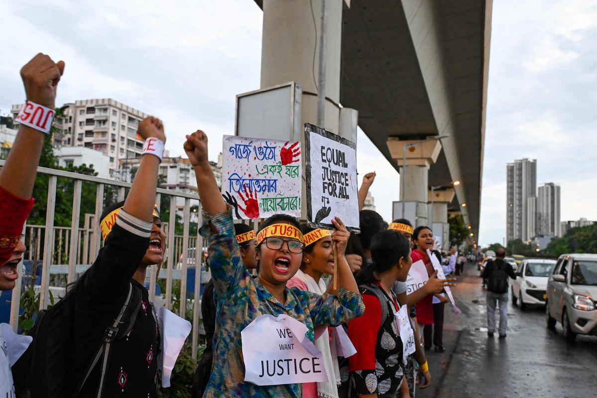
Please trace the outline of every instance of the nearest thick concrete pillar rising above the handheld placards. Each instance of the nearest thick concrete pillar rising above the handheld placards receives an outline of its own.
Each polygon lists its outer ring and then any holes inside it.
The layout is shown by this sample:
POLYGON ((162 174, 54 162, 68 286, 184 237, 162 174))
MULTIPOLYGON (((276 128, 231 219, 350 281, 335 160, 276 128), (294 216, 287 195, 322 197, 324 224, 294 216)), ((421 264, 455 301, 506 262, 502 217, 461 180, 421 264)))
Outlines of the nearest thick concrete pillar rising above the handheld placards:
MULTIPOLYGON (((353 141, 353 128, 340 128, 340 53, 342 0, 326 0, 327 61, 325 73, 325 126, 353 141)), ((319 24, 321 0, 264 0, 261 42, 261 88, 290 81, 303 90, 302 122, 316 124, 319 24), (315 17, 315 18, 313 18, 315 17), (313 24, 315 19, 315 24, 313 24)), ((349 121, 352 117, 347 115, 349 121)), ((351 126, 352 127, 352 126, 351 126)))

